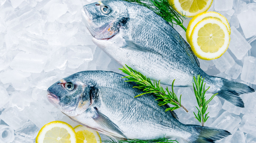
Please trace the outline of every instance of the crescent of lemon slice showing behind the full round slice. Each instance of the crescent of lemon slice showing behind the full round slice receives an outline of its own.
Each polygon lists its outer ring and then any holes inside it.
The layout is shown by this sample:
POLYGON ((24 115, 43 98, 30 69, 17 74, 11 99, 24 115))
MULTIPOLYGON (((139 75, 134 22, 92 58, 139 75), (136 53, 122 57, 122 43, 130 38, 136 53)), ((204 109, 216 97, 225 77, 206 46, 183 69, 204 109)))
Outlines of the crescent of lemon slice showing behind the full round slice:
POLYGON ((191 32, 192 32, 193 28, 195 27, 195 25, 197 23, 199 23, 200 21, 207 19, 207 18, 215 18, 215 19, 222 21, 227 26, 228 33, 230 34, 230 31, 231 31, 230 26, 228 24, 227 19, 223 15, 221 15, 220 13, 214 12, 214 11, 203 12, 203 13, 199 13, 198 15, 193 17, 187 26, 186 38, 187 38, 188 43, 190 43, 189 37, 190 37, 191 32))

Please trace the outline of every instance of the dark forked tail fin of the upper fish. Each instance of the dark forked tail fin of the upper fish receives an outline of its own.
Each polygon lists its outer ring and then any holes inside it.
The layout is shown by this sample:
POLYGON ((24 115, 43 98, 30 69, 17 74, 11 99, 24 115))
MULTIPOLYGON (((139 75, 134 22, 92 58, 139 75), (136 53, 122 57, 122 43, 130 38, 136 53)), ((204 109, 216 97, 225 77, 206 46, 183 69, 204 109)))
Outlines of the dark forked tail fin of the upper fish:
POLYGON ((217 77, 218 80, 221 80, 223 86, 220 87, 217 96, 225 99, 226 101, 238 106, 238 107, 245 107, 243 100, 239 97, 240 94, 251 93, 255 90, 251 87, 235 82, 226 80, 224 78, 217 77))

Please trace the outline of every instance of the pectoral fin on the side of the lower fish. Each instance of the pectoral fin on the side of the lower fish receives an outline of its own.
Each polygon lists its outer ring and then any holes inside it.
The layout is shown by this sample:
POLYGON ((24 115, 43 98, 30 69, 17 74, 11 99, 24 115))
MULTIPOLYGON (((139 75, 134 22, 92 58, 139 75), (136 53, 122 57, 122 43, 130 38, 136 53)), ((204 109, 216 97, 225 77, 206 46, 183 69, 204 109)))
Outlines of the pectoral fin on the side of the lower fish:
POLYGON ((114 136, 117 136, 118 138, 127 139, 127 137, 123 134, 123 132, 119 129, 119 127, 113 121, 111 121, 108 117, 106 117, 104 114, 99 112, 96 107, 95 109, 96 109, 97 116, 93 119, 97 124, 102 126, 105 130, 111 130, 118 134, 118 136, 117 135, 114 135, 114 136))

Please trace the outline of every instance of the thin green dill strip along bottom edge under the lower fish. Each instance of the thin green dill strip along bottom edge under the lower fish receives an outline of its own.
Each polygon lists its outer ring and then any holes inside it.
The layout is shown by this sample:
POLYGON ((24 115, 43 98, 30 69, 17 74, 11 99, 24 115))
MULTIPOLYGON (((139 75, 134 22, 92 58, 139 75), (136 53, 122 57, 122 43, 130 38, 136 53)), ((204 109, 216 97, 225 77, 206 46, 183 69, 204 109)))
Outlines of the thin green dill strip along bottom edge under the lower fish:
POLYGON ((129 139, 129 140, 114 140, 112 138, 102 140, 104 143, 179 143, 177 140, 170 140, 165 137, 152 140, 139 140, 139 139, 129 139))

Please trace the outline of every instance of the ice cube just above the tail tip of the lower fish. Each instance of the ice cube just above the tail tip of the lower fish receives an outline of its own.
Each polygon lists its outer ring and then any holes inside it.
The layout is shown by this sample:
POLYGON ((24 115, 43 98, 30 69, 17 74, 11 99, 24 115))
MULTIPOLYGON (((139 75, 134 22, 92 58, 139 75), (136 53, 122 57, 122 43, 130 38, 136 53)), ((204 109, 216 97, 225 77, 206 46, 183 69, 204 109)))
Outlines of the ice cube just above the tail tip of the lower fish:
POLYGON ((240 122, 241 118, 239 116, 225 111, 210 125, 210 127, 223 129, 233 133, 240 126, 240 122))

